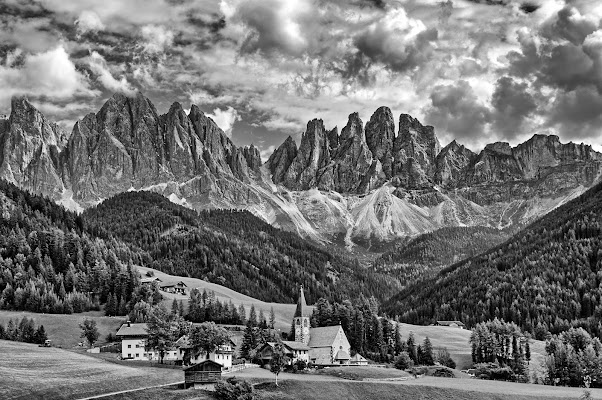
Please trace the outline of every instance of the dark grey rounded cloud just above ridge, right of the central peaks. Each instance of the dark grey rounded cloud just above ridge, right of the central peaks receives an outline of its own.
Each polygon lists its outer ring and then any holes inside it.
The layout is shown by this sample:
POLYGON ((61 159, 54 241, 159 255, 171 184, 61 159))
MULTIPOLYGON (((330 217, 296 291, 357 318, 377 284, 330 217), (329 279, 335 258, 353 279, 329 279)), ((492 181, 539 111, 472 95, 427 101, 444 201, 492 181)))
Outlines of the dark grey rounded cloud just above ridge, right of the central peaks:
POLYGON ((457 139, 486 139, 491 111, 477 99, 467 81, 438 85, 430 96, 426 122, 457 139))

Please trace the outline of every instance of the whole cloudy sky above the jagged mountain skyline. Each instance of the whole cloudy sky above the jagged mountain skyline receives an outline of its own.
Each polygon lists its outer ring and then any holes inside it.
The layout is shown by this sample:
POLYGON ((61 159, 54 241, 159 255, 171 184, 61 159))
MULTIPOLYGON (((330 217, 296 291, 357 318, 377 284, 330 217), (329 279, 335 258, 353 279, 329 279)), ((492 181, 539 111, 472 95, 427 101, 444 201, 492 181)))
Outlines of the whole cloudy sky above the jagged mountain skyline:
POLYGON ((533 134, 602 150, 597 0, 0 0, 0 114, 68 131, 115 92, 197 104, 267 158, 380 106, 473 151, 533 134))

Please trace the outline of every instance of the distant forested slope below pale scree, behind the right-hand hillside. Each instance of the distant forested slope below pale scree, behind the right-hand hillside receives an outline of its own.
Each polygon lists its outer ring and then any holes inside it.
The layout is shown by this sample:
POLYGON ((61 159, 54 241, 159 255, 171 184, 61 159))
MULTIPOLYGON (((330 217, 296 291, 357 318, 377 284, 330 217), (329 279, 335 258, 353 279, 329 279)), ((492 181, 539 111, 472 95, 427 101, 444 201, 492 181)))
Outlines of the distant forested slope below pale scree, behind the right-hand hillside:
POLYGON ((510 236, 508 230, 488 227, 448 227, 422 234, 377 258, 372 269, 404 285, 437 274, 443 267, 481 254, 510 236))

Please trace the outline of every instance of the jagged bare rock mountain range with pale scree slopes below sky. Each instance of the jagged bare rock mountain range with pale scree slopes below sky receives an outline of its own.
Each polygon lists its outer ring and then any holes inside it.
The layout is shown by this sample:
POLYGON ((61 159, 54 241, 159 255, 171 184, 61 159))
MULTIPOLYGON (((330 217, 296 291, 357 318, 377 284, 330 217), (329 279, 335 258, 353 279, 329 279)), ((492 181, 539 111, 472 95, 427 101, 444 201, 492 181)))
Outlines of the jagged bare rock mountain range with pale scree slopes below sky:
POLYGON ((246 209, 315 241, 371 245, 442 227, 520 227, 599 180, 602 154, 535 135, 478 154, 378 108, 339 130, 308 122, 262 163, 199 107, 160 115, 141 93, 115 94, 71 133, 22 97, 0 119, 0 178, 81 211, 117 193, 158 192, 201 210, 246 209))

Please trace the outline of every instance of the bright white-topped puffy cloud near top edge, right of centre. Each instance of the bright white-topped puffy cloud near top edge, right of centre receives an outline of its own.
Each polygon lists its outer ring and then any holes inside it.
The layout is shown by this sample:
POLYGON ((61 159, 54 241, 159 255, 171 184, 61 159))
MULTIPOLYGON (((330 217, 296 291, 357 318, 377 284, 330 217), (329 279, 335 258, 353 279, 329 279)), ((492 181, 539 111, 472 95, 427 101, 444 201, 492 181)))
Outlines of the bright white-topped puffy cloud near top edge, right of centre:
POLYGON ((412 69, 425 62, 437 39, 435 28, 409 18, 403 8, 384 13, 354 39, 357 49, 374 62, 395 71, 412 69))

